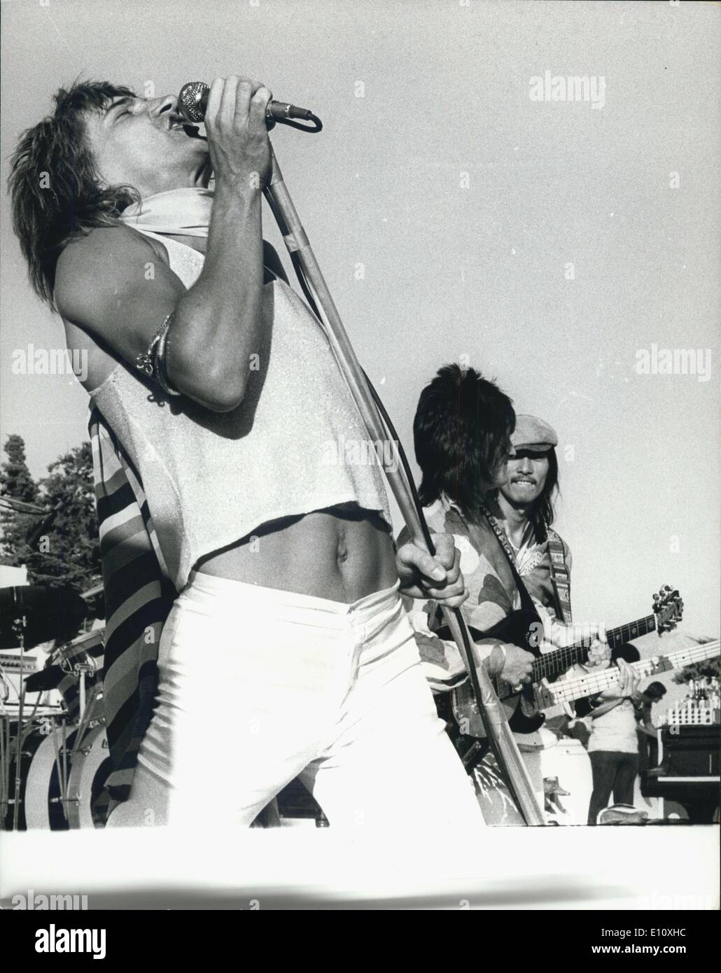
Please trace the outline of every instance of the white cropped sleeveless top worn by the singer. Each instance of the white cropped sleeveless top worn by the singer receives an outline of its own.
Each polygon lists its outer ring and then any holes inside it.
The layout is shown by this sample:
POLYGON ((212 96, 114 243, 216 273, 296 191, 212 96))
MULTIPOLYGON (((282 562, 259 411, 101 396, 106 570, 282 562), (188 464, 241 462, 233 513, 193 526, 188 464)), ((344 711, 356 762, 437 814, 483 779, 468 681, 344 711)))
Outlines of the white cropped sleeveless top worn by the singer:
MULTIPOLYGON (((201 253, 139 232, 162 241, 186 287, 196 282, 201 253)), ((198 559, 277 518, 356 503, 391 529, 382 452, 369 442, 323 329, 282 280, 263 288, 258 353, 230 413, 165 397, 124 362, 90 392, 140 474, 177 591, 198 559)))

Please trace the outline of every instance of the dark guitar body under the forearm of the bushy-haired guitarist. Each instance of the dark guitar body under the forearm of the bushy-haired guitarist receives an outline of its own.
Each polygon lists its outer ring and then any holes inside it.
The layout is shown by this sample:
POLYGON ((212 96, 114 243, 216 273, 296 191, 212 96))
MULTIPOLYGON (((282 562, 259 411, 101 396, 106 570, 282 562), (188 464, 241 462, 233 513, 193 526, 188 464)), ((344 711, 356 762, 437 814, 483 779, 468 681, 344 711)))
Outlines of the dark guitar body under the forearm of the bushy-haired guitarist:
MULTIPOLYGON (((499 642, 510 642, 537 658, 540 655, 538 626, 539 619, 535 612, 519 609, 501 619, 488 631, 478 631, 472 627, 469 627, 469 631, 475 639, 495 638, 499 642)), ((437 634, 442 638, 448 637, 442 631, 437 634)), ((493 684, 506 711, 508 725, 514 733, 535 733, 543 725, 546 716, 538 711, 532 686, 514 690, 500 679, 494 679, 493 684)), ((452 709, 461 733, 480 739, 486 737, 483 719, 469 681, 452 690, 452 709)))

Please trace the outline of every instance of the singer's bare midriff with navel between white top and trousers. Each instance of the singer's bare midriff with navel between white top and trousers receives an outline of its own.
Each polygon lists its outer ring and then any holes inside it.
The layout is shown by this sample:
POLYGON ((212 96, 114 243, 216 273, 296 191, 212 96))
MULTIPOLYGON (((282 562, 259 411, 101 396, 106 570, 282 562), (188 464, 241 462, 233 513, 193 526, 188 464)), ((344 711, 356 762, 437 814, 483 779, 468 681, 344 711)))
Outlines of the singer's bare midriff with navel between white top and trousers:
POLYGON ((196 570, 345 604, 390 588, 398 577, 387 527, 355 504, 265 523, 200 559, 196 570))

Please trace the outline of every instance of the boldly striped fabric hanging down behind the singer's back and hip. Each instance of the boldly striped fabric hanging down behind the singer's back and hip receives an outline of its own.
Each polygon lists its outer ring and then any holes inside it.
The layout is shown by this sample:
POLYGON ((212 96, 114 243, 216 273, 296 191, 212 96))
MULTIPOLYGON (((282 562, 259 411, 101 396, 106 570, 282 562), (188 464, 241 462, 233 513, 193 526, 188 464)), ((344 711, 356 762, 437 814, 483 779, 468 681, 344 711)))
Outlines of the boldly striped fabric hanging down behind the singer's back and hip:
POLYGON ((111 809, 126 801, 158 686, 158 645, 176 592, 164 569, 140 478, 90 405, 95 504, 105 590, 103 705, 111 809))

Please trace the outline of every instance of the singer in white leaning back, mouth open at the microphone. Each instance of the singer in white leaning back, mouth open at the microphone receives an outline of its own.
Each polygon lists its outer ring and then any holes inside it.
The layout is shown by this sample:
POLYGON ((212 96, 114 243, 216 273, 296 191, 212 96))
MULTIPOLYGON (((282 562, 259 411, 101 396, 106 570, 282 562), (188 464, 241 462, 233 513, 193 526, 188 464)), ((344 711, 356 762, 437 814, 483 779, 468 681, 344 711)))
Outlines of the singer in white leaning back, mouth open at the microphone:
POLYGON ((108 824, 198 826, 202 776, 213 820, 248 825, 300 776, 332 828, 482 826, 400 597, 459 604, 458 556, 396 550, 378 465, 327 462, 367 433, 263 240, 270 97, 217 78, 203 138, 174 96, 81 83, 13 160, 31 283, 87 356, 175 592, 108 824))

